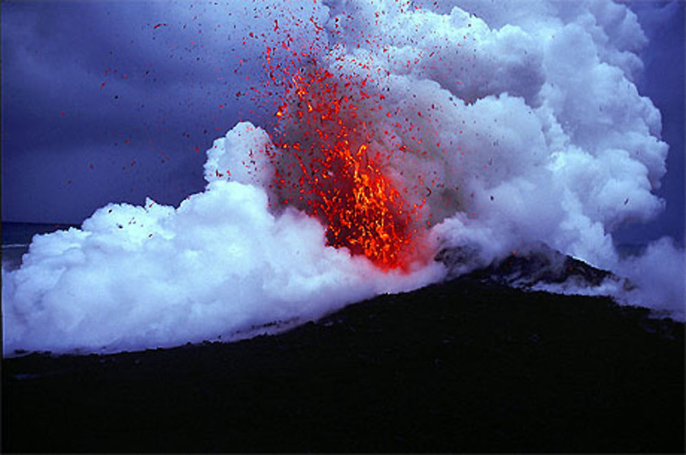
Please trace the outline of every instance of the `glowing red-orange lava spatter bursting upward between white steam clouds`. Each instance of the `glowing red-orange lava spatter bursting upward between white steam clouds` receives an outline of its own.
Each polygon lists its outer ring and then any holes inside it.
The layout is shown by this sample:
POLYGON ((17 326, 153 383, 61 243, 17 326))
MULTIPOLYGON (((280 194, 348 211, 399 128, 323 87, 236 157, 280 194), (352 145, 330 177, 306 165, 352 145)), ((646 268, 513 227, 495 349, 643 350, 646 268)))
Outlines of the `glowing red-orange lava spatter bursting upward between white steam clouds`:
MULTIPOLYGON (((421 205, 409 207, 372 156, 373 128, 355 100, 366 80, 340 80, 316 62, 292 75, 276 112, 272 189, 327 225, 328 244, 345 246, 383 269, 407 268, 421 205)), ((377 95, 383 96, 383 95, 377 95)))

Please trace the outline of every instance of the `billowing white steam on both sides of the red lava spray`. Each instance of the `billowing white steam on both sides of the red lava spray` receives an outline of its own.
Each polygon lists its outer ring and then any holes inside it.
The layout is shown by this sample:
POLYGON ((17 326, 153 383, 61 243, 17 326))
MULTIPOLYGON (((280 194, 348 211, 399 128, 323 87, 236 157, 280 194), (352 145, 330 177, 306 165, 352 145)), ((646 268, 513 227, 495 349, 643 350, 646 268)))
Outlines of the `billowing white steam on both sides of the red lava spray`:
MULTIPOLYGON (((466 248, 466 271, 544 242, 636 286, 577 291, 683 319, 683 250, 663 239, 620 259, 613 244, 617 226, 663 209, 652 191, 668 149, 659 111, 635 86, 646 38, 626 6, 257 3, 266 42, 287 31, 292 47, 383 94, 383 110, 366 114, 379 132, 370 148, 426 152, 388 152, 385 169, 411 201, 427 196, 418 179, 431 182, 425 248, 466 248)), ((238 124, 208 151, 206 190, 177 209, 109 205, 82 230, 36 237, 21 269, 3 272, 5 353, 246 336, 443 277, 434 262, 381 272, 325 246, 317 220, 270 212, 269 143, 259 126, 238 124)))

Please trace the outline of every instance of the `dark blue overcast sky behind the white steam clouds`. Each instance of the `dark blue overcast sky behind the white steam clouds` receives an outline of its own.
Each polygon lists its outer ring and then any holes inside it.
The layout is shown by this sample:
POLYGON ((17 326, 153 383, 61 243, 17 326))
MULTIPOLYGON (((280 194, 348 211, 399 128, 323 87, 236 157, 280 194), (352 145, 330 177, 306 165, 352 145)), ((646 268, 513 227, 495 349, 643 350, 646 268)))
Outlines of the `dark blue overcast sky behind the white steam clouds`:
MULTIPOLYGON (((639 91, 661 110, 670 155, 658 191, 665 212, 617 237, 683 244, 684 3, 630 5, 650 38, 639 91)), ((200 191, 213 139, 241 119, 268 121, 237 96, 250 86, 245 76, 260 73, 263 49, 242 45, 231 24, 250 17, 235 10, 4 1, 3 220, 78 223, 108 202, 176 205, 200 191)))

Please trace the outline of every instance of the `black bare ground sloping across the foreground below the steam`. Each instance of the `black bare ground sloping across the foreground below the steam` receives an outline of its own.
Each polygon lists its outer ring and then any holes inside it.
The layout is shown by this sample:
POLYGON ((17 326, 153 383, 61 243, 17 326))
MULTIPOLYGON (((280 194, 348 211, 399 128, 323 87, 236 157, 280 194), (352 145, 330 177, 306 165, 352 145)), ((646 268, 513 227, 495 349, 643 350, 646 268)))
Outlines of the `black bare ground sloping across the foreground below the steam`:
POLYGON ((278 336, 3 360, 3 452, 682 452, 684 326, 462 278, 278 336))

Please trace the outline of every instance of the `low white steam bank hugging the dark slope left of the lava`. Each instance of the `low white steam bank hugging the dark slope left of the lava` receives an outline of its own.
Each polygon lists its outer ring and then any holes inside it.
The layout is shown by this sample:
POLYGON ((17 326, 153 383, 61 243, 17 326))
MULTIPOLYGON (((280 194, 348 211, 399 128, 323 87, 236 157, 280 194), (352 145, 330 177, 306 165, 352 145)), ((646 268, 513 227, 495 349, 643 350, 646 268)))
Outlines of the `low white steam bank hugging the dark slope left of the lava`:
POLYGON ((325 246, 307 215, 275 218, 262 189, 218 181, 178 209, 108 205, 82 229, 36 236, 21 268, 3 276, 5 352, 230 340, 440 273, 385 274, 325 246))

